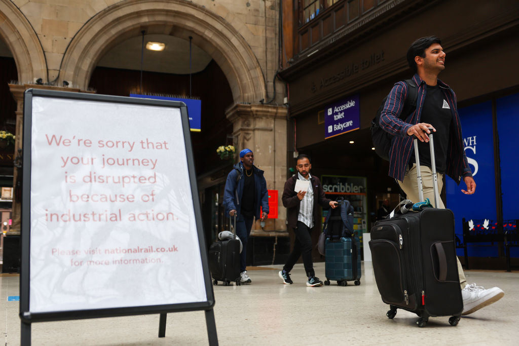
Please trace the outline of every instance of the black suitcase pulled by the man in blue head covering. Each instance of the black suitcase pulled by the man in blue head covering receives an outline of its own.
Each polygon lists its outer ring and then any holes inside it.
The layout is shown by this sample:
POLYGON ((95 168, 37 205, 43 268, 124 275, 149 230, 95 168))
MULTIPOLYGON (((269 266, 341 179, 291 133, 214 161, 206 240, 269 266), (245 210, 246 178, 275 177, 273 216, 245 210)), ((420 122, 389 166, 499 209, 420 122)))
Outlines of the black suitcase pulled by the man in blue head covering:
MULTIPOLYGON (((234 216, 234 228, 229 218, 229 230, 236 237, 236 215, 234 216)), ((231 282, 241 285, 240 282, 240 245, 238 239, 216 241, 209 247, 209 270, 213 278, 213 284, 222 281, 224 286, 231 282)))

